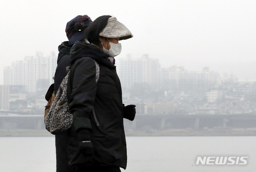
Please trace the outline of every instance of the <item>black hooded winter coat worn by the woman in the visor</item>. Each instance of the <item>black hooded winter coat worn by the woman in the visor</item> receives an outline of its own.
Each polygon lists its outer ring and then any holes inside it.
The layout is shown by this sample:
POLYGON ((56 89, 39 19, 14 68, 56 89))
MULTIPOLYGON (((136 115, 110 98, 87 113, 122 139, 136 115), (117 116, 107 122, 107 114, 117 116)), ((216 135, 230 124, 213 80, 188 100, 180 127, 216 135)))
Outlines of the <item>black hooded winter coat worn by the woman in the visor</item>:
POLYGON ((71 51, 71 70, 68 85, 70 113, 73 124, 68 145, 70 164, 116 166, 126 168, 127 153, 123 124, 122 90, 120 80, 106 55, 96 46, 74 43, 71 51), (96 83, 96 65, 100 77, 96 83), (92 113, 94 107, 95 116, 92 113), (94 155, 81 154, 78 135, 87 130, 94 155))

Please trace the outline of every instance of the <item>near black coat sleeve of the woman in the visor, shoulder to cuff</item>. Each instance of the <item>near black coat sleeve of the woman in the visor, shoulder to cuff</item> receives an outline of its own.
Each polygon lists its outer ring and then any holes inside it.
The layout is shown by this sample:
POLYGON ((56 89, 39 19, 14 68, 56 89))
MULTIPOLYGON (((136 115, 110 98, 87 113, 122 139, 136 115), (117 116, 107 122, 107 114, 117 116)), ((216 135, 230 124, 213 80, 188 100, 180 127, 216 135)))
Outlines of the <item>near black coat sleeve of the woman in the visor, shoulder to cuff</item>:
POLYGON ((73 114, 76 131, 81 128, 91 129, 90 113, 96 96, 96 66, 90 57, 78 59, 71 69, 72 93, 69 106, 73 114))

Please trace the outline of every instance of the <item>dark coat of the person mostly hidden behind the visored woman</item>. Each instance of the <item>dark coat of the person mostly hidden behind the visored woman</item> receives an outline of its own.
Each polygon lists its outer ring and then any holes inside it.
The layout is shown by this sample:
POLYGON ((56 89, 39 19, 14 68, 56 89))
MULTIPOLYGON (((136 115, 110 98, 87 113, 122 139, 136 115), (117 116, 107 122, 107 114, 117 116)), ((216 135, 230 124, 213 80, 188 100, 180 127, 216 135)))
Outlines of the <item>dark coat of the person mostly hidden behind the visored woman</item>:
MULTIPOLYGON (((58 50, 57 67, 54 75, 54 92, 55 94, 60 87, 62 79, 66 76, 66 67, 70 66, 70 49, 72 45, 68 45, 67 42, 61 43, 58 50)), ((62 132, 62 134, 55 135, 56 146, 56 172, 73 172, 73 167, 68 165, 68 132, 62 132)))

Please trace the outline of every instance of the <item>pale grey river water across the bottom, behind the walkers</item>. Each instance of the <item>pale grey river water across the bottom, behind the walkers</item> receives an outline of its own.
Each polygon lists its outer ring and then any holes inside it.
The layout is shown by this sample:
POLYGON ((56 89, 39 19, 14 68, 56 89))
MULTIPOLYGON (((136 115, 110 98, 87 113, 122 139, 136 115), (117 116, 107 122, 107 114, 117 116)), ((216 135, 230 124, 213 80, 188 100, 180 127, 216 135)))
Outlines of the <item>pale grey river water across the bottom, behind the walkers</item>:
MULTIPOLYGON (((126 137, 122 172, 255 172, 255 136, 126 137), (198 156, 246 156, 246 165, 196 165, 198 156)), ((55 172, 54 137, 0 137, 0 171, 55 172)))

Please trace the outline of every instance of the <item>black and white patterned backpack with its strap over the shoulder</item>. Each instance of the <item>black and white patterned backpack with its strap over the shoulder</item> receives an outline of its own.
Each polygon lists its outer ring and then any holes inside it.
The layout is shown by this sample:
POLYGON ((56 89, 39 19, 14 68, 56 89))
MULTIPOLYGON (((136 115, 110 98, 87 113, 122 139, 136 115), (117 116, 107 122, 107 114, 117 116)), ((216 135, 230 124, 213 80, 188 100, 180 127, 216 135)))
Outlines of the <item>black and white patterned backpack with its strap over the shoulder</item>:
MULTIPOLYGON (((100 76, 100 66, 95 61, 96 65, 96 83, 100 76)), ((68 107, 68 74, 62 80, 60 87, 55 95, 54 101, 44 117, 44 125, 46 130, 52 134, 62 132, 71 127, 73 122, 73 115, 69 113, 68 107)))

